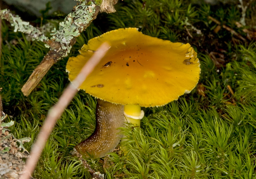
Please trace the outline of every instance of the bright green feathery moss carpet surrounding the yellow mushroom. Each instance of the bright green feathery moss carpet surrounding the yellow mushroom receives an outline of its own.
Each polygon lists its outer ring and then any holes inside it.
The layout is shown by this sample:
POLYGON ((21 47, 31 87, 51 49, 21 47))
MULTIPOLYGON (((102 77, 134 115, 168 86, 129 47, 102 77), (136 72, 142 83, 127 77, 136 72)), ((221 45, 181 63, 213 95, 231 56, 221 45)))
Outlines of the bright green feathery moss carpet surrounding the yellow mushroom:
MULTIPOLYGON (((255 178, 256 43, 234 44, 231 39, 235 37, 225 29, 214 33, 217 25, 207 18, 210 15, 245 37, 232 21, 241 17, 237 6, 176 0, 147 0, 144 4, 137 0, 119 2, 117 12, 107 15, 104 26, 102 22, 91 25, 78 37, 71 55, 103 33, 101 29, 138 27, 151 36, 191 43, 201 63, 202 91, 196 88, 163 107, 144 108, 141 128, 122 128, 128 140, 118 148, 124 147, 126 153, 118 150, 104 161, 87 159, 88 164, 109 179, 255 178), (224 61, 217 61, 218 65, 210 52, 223 54, 224 61)), ((251 17, 247 13, 246 18, 251 17)), ((16 138, 32 139, 24 144, 29 150, 47 111, 68 84, 67 59, 55 64, 30 96, 24 97, 20 89, 47 49, 43 43, 13 33, 6 24, 2 29, 0 88, 4 111, 15 120, 11 132, 16 138)), ((35 178, 91 178, 70 151, 93 132, 95 108, 95 99, 83 91, 75 96, 47 141, 35 178)))

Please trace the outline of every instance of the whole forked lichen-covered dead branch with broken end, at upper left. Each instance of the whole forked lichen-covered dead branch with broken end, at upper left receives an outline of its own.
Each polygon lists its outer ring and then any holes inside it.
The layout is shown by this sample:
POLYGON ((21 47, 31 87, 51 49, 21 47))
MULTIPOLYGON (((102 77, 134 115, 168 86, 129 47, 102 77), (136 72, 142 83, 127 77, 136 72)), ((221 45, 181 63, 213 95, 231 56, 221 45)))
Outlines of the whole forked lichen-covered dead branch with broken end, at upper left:
POLYGON ((32 40, 42 41, 46 47, 50 48, 42 62, 22 87, 23 94, 28 96, 52 65, 68 55, 76 42, 76 37, 90 25, 99 12, 115 12, 114 4, 116 3, 117 0, 102 0, 101 4, 97 5, 92 1, 89 5, 87 1, 82 2, 74 7, 73 12, 68 14, 64 21, 59 24, 59 30, 54 29, 51 39, 44 36, 37 28, 29 25, 28 22, 24 22, 20 17, 13 15, 9 10, 0 10, 0 17, 8 20, 14 26, 15 32, 26 33, 32 40))

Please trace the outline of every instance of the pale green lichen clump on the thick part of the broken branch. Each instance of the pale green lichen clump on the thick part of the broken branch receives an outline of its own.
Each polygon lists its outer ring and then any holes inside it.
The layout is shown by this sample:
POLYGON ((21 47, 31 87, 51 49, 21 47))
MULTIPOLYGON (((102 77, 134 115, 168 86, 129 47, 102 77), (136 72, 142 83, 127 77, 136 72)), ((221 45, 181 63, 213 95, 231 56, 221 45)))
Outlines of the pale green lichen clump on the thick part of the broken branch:
MULTIPOLYGON (((90 5, 86 5, 85 2, 81 3, 75 8, 75 11, 68 14, 68 16, 59 25, 59 30, 54 30, 51 33, 52 38, 56 42, 61 44, 61 49, 66 50, 65 56, 70 52, 70 41, 80 35, 79 31, 83 31, 87 24, 93 19, 92 16, 95 13, 96 5, 91 2, 90 5)), ((60 49, 59 49, 60 50, 60 49)))

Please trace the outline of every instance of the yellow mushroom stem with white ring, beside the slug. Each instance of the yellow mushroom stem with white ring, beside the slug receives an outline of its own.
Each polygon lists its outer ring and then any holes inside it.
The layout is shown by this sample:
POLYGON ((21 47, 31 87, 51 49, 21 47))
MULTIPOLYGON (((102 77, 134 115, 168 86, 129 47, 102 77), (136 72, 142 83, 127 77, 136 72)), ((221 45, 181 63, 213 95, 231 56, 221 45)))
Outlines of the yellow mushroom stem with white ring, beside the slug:
POLYGON ((127 104, 124 106, 124 115, 128 123, 140 126, 140 120, 144 116, 144 111, 141 110, 140 105, 127 104))

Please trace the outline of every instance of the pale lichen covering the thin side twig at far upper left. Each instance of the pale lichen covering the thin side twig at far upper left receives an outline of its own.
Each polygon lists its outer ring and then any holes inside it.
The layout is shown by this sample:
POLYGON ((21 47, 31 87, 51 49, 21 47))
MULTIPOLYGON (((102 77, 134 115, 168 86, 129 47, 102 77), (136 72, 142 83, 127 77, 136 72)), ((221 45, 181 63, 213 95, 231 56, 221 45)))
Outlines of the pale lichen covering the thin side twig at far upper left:
POLYGON ((32 40, 38 41, 48 41, 48 37, 44 36, 44 34, 38 30, 37 28, 29 25, 28 22, 24 22, 20 17, 14 16, 10 10, 4 9, 0 10, 0 17, 2 19, 6 19, 11 23, 11 26, 14 26, 14 32, 20 31, 22 33, 29 34, 32 40))

